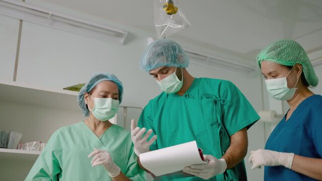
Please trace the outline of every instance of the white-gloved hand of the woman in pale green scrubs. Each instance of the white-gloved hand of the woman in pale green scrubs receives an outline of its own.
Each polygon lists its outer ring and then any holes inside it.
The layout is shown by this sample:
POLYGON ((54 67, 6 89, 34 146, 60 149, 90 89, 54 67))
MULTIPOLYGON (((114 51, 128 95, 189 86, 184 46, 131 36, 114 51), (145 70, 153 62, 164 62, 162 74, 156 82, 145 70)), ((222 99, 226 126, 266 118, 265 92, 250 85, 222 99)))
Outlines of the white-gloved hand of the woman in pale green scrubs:
POLYGON ((111 177, 119 175, 121 169, 114 163, 108 151, 94 148, 94 151, 88 157, 94 158, 91 161, 92 166, 103 165, 111 177))

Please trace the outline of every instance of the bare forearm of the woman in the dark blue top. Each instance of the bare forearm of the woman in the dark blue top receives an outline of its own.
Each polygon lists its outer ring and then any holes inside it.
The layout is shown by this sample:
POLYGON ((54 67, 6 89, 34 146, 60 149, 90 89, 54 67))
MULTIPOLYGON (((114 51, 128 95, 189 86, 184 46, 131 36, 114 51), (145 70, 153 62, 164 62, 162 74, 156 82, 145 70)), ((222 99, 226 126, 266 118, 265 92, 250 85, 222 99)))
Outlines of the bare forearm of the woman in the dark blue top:
POLYGON ((311 178, 322 180, 322 159, 294 155, 291 169, 311 178))

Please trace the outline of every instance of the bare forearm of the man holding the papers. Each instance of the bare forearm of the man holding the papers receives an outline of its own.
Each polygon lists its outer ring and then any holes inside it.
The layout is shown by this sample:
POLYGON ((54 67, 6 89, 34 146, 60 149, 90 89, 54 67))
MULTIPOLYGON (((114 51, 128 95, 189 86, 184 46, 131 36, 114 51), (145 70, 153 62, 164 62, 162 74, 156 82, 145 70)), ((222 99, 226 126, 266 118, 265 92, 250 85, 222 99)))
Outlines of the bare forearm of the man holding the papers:
POLYGON ((226 153, 222 156, 226 160, 227 169, 236 166, 244 159, 247 153, 247 129, 244 128, 231 136, 231 143, 226 153))

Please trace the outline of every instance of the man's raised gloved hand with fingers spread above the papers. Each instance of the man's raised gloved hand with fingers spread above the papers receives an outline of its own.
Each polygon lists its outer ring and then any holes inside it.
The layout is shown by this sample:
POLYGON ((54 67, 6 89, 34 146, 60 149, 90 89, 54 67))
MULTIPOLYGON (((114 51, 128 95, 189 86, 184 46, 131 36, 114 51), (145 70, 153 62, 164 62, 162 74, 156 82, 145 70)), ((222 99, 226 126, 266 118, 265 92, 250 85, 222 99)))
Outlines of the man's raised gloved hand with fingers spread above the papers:
POLYGON ((146 128, 140 129, 134 120, 131 122, 131 138, 134 144, 134 152, 140 156, 141 153, 149 151, 150 146, 157 139, 157 135, 154 135, 149 141, 148 138, 152 134, 150 129, 144 136, 143 134, 147 131, 146 128))

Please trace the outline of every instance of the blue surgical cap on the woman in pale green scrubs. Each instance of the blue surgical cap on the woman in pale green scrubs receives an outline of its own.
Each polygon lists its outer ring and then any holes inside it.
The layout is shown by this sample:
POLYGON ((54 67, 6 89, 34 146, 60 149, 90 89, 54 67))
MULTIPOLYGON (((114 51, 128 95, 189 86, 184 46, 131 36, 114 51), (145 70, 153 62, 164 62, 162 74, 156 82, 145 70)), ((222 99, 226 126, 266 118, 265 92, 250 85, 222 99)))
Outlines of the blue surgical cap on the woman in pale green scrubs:
POLYGON ((90 80, 81 88, 78 97, 77 97, 77 102, 80 105, 83 115, 84 116, 89 116, 89 110, 86 107, 85 100, 84 100, 84 94, 89 93, 95 85, 98 83, 104 81, 104 80, 109 80, 114 83, 116 83, 117 88, 118 88, 118 100, 119 103, 122 102, 122 96, 123 96, 123 85, 122 82, 113 74, 109 73, 94 73, 90 80))

